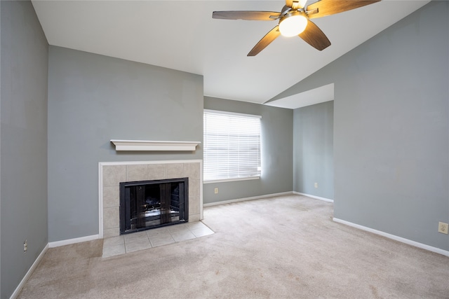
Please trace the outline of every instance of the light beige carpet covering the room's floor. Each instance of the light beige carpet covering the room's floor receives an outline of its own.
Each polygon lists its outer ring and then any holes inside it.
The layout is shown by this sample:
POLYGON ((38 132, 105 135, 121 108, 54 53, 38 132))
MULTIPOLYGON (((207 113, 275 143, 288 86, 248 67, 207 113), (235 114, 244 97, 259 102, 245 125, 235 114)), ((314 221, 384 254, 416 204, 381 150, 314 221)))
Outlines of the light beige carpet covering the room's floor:
POLYGON ((449 298, 449 258, 332 221, 300 195, 204 209, 215 234, 101 258, 48 249, 19 298, 449 298))

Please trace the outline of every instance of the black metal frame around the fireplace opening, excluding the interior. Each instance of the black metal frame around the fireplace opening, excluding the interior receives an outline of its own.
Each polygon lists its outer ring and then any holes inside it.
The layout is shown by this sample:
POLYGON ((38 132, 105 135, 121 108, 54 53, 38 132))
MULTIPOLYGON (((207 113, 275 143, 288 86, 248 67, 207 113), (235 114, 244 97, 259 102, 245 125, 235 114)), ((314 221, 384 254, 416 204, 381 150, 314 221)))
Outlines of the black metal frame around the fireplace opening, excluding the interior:
MULTIPOLYGON (((189 221, 189 178, 175 178, 175 179, 160 179, 160 180, 149 180, 149 181, 128 181, 119 183, 120 188, 120 208, 119 208, 119 217, 120 217, 120 235, 126 235, 132 232, 139 232, 142 230, 149 230, 152 228, 161 228, 167 225, 175 225, 179 223, 185 223, 189 221), (130 205, 126 203, 125 190, 126 187, 131 186, 147 186, 147 185, 160 185, 166 183, 182 183, 183 186, 183 202, 180 202, 180 216, 179 221, 173 221, 168 223, 161 223, 159 225, 152 225, 144 228, 134 228, 130 229, 126 227, 126 218, 127 214, 130 213, 130 205)), ((130 216, 130 215, 128 215, 130 216)), ((162 215, 161 215, 162 216, 162 215)))

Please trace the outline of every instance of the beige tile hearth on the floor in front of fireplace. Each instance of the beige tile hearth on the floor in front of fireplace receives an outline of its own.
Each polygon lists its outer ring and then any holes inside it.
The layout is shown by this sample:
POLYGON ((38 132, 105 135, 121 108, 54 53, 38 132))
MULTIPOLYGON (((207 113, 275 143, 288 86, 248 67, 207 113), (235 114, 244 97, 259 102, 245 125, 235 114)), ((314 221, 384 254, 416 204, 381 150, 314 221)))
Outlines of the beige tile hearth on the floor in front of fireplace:
POLYGON ((128 235, 108 237, 103 240, 103 258, 118 256, 143 249, 172 244, 175 242, 195 239, 206 235, 212 235, 210 230, 201 221, 168 225, 163 228, 154 228, 142 232, 134 232, 128 235))

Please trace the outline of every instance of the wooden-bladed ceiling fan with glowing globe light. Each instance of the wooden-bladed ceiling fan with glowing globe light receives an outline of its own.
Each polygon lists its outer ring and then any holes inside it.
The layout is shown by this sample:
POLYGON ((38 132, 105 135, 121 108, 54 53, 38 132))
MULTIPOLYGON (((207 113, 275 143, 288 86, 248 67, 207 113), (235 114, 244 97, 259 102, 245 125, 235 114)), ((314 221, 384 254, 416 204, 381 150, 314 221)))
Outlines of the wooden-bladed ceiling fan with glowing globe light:
POLYGON ((225 20, 279 20, 279 24, 270 30, 255 46, 248 56, 255 56, 266 48, 279 34, 300 36, 317 50, 330 46, 327 36, 310 19, 325 17, 335 13, 350 11, 354 8, 379 2, 380 0, 319 0, 304 8, 307 0, 286 0, 281 13, 275 11, 214 11, 212 18, 225 20))

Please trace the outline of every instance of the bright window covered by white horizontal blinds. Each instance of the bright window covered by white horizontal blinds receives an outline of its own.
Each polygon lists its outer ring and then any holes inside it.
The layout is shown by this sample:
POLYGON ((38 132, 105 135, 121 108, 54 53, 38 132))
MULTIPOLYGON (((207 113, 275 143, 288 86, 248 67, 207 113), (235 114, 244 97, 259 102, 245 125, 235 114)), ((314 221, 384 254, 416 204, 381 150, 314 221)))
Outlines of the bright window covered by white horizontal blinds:
POLYGON ((204 181, 260 177, 260 119, 249 114, 204 111, 204 181))

